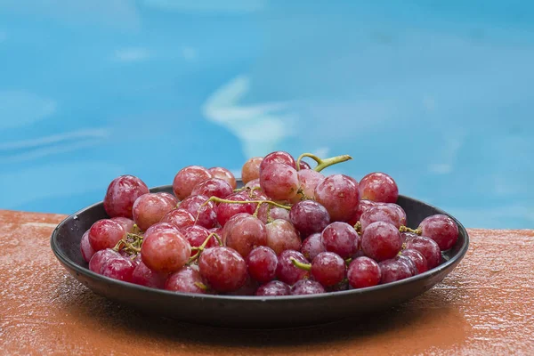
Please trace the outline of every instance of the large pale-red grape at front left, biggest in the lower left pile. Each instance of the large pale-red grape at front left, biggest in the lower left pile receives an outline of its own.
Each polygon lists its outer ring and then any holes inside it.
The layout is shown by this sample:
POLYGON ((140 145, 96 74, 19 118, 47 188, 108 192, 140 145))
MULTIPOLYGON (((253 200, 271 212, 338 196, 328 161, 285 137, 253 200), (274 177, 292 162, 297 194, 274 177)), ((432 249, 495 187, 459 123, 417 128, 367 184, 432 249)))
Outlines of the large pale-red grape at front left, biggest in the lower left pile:
POLYGON ((160 230, 144 236, 141 247, 142 262, 152 271, 178 271, 188 262, 190 255, 190 243, 180 232, 160 230))

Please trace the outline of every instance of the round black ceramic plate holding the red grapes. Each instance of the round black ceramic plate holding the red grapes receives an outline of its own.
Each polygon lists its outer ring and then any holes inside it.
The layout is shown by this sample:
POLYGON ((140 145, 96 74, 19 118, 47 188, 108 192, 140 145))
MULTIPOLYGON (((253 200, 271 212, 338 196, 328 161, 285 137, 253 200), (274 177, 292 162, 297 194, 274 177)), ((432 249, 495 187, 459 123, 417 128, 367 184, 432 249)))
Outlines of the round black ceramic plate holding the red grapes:
MULTIPOLYGON (((172 187, 158 187, 151 191, 171 192, 172 187)), ((413 198, 400 196, 397 203, 406 211, 408 226, 412 228, 426 216, 447 214, 413 198)), ((344 318, 357 320, 354 317, 405 302, 439 283, 464 257, 469 244, 465 228, 453 217, 460 233, 457 244, 443 253, 441 265, 409 279, 322 295, 192 295, 137 286, 89 271, 80 254, 80 239, 95 221, 107 217, 102 203, 98 203, 70 215, 53 231, 53 252, 77 280, 99 295, 142 312, 227 328, 290 328, 344 318)))

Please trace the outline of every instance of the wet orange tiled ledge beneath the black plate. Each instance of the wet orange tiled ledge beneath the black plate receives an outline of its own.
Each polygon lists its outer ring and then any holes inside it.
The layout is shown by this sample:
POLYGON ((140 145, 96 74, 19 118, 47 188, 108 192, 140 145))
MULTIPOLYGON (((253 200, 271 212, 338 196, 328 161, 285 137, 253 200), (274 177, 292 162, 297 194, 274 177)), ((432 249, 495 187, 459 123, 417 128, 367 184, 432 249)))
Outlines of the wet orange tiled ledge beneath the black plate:
POLYGON ((94 295, 50 249, 64 217, 0 210, 1 355, 534 354, 534 231, 470 230, 441 284, 374 318, 262 331, 183 325, 94 295))

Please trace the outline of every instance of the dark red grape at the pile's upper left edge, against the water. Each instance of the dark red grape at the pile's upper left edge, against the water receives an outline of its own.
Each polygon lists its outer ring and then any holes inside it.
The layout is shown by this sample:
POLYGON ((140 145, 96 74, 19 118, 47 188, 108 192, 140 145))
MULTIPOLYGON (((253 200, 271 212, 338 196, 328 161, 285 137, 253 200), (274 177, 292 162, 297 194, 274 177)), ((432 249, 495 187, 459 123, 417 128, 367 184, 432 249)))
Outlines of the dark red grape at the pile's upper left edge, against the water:
POLYGON ((135 199, 149 192, 149 187, 134 175, 121 175, 109 183, 104 209, 110 217, 132 218, 135 199))

